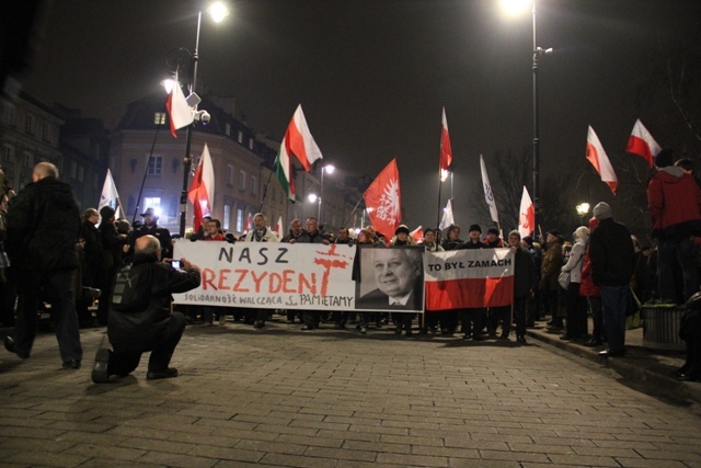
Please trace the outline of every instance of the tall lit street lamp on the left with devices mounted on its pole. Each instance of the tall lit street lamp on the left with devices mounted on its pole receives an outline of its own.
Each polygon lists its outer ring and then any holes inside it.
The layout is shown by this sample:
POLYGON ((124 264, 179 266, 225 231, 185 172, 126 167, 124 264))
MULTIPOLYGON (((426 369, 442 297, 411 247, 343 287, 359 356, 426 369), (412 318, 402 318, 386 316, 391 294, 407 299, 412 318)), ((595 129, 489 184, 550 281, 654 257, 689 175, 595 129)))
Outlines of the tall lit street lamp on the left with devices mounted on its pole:
MULTIPOLYGON (((228 14, 229 10, 227 7, 221 3, 212 3, 207 12, 211 16, 215 23, 219 23, 223 20, 228 14)), ((173 54, 169 55, 169 64, 174 66, 176 69, 181 67, 189 66, 191 70, 191 79, 189 79, 189 92, 194 93, 197 88, 197 61, 199 60, 199 30, 202 26, 202 11, 197 12, 197 35, 195 36, 195 49, 194 52, 189 52, 184 47, 181 47, 173 52, 173 54)), ((177 83, 174 83, 179 85, 177 83)), ((197 113, 197 103, 194 104, 194 111, 197 113)), ((204 113, 206 114, 206 112, 204 113)), ((199 114, 202 115, 202 114, 199 114)), ((207 114, 208 115, 208 114, 207 114)), ((185 221, 186 221, 186 213, 187 213, 187 182, 189 179, 189 171, 192 169, 193 159, 191 151, 193 138, 193 125, 187 126, 187 132, 185 134, 185 158, 183 159, 183 189, 180 194, 180 235, 182 237, 185 236, 185 221)))

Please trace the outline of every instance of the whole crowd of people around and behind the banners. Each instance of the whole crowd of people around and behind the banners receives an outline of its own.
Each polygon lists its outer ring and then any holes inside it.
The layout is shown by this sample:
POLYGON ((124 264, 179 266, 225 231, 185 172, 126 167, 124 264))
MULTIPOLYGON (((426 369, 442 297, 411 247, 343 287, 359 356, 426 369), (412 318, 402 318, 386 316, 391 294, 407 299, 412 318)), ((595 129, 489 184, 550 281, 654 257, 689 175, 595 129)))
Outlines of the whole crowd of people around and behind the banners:
MULTIPOLYGON (((414 283, 406 283, 410 286, 402 289, 398 286, 404 284, 401 275, 412 277, 420 272, 412 266, 410 256, 398 253, 382 260, 382 274, 389 275, 398 288, 397 301, 390 297, 386 311, 179 306, 183 311, 181 316, 170 311, 164 315, 170 308, 166 304, 170 294, 197 287, 199 269, 185 259, 181 269, 161 262, 173 258, 173 239, 168 229, 158 225, 156 212, 148 208, 141 214, 143 222, 134 228, 127 221, 115 219, 115 210, 108 206, 99 212, 87 209, 81 222, 71 187, 58 180, 56 167, 42 162, 34 168, 34 182, 16 194, 9 206, 5 196, 0 209, 0 233, 4 242, 0 256, 0 321, 14 326, 14 334, 4 339, 4 345, 21 358, 30 357, 37 328, 36 312, 43 303, 48 303, 65 368, 80 368, 81 322, 87 324, 95 319, 99 324, 108 324, 108 334, 116 347, 99 352, 93 369, 93 380, 99 383, 110 381, 113 375, 130 373, 142 352, 154 350, 160 351, 151 357, 149 378, 177 375, 168 364, 186 321, 211 327, 215 319, 226 326, 231 318, 262 329, 274 313, 285 317, 288 324, 299 321, 303 331, 319 329, 322 323, 331 323, 336 330, 355 324, 358 333, 366 334, 370 329, 389 326, 398 335, 459 333, 464 340, 479 342, 509 340, 514 334, 518 343, 526 342, 528 327, 548 318, 548 330, 559 333, 562 340, 604 346, 599 353, 602 357, 623 356, 625 318, 635 313, 642 303, 671 307, 699 292, 696 252, 701 244, 701 189, 688 161, 675 164, 670 151, 657 155, 655 165, 657 172, 648 183, 648 201, 656 249, 641 246, 625 226, 613 220, 612 209, 606 203, 595 206, 588 226, 578 227, 571 240, 556 229, 543 236, 521 238, 518 230, 503 237, 499 229, 490 227, 483 235, 478 224, 469 226, 466 240, 457 225, 444 231, 426 229, 420 239, 414 239, 409 228, 401 225, 388 239, 371 226, 358 232, 347 227, 327 232, 314 217, 307 218, 303 227, 301 219, 294 219, 288 233, 278 239, 262 213, 253 217, 253 228, 239 238, 225 233, 219 220, 205 218, 189 239, 195 242, 344 243, 389 249, 422 246, 428 252, 510 249, 515 259, 514 294, 507 306, 425 310, 422 315, 402 311, 423 307, 406 306, 415 300, 411 290, 414 283), (151 313, 137 324, 119 319, 125 312, 118 310, 117 299, 126 300, 131 283, 139 283, 143 279, 138 278, 143 277, 149 278, 151 287, 143 289, 149 293, 134 294, 158 296, 157 304, 149 306, 151 313), (95 299, 97 308, 93 317, 91 306, 95 299), (166 319, 171 324, 158 328, 161 331, 153 332, 157 339, 147 339, 148 333, 140 332, 166 319), (130 330, 129 327, 137 328, 130 330), (141 338, 125 341, 127 335, 141 338)), ((355 274, 357 265, 354 265, 355 274)), ((392 296, 391 292, 381 293, 382 301, 392 296)), ((375 297, 368 295, 356 300, 375 304, 370 299, 375 297)), ((692 343, 693 339, 688 341, 692 343)), ((697 340, 696 347, 689 349, 698 349, 698 343, 697 340)), ((681 380, 699 380, 701 359, 696 352, 690 351, 688 355, 687 364, 677 376, 681 380)))

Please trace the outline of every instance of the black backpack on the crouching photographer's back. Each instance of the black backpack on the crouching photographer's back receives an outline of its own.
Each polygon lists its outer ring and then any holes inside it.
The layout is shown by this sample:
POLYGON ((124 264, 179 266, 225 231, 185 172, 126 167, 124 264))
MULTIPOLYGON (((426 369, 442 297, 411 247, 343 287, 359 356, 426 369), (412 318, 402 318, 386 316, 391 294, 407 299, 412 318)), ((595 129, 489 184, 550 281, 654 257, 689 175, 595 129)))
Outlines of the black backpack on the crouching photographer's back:
POLYGON ((151 301, 153 273, 150 265, 124 265, 117 272, 112 294, 112 308, 117 312, 142 312, 151 301))

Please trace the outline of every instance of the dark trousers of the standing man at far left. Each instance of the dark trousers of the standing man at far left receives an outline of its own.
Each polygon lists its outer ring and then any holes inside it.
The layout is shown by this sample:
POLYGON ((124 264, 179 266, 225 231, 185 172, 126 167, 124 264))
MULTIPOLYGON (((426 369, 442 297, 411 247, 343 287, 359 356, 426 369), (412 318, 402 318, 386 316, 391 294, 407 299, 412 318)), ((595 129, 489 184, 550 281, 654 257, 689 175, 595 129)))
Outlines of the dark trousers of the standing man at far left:
POLYGON ((51 305, 51 318, 61 359, 66 362, 83 358, 73 297, 73 274, 74 270, 56 273, 22 270, 18 272, 18 318, 14 327, 14 345, 19 353, 28 355, 32 351, 38 321, 37 309, 42 288, 44 288, 51 305))

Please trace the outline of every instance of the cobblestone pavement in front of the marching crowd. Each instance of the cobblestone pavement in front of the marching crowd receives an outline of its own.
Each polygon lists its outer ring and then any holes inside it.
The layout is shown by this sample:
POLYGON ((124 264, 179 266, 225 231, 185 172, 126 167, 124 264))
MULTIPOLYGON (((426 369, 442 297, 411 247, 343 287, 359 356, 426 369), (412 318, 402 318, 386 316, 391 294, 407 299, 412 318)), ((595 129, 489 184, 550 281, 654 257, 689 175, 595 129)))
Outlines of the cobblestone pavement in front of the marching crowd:
POLYGON ((0 354, 3 467, 701 467, 696 406, 536 340, 229 322, 187 328, 177 378, 94 385, 82 339, 80 370, 46 333, 0 354))

